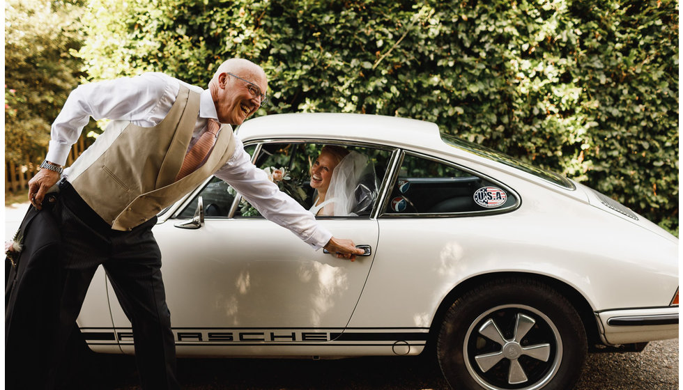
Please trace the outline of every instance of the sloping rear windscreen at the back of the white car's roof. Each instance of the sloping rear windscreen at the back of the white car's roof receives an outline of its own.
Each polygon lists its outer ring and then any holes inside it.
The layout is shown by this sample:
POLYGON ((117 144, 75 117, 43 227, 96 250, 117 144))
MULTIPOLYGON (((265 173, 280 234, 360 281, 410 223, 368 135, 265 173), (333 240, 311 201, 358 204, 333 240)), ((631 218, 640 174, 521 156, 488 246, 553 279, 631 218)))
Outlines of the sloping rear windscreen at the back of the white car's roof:
POLYGON ((441 139, 443 139, 443 141, 445 141, 445 143, 449 144, 450 146, 466 150, 470 153, 474 153, 475 155, 485 157, 487 159, 492 159, 493 161, 500 162, 507 166, 512 166, 516 169, 521 169, 526 173, 531 173, 532 175, 537 176, 538 178, 547 180, 548 182, 551 182, 555 185, 559 185, 560 187, 564 187, 566 189, 576 189, 574 183, 572 183, 569 179, 565 178, 559 173, 546 171, 545 169, 540 169, 537 166, 533 166, 531 164, 522 162, 519 159, 500 153, 497 150, 489 149, 484 146, 477 145, 476 143, 465 141, 463 139, 459 139, 443 133, 441 134, 441 139))

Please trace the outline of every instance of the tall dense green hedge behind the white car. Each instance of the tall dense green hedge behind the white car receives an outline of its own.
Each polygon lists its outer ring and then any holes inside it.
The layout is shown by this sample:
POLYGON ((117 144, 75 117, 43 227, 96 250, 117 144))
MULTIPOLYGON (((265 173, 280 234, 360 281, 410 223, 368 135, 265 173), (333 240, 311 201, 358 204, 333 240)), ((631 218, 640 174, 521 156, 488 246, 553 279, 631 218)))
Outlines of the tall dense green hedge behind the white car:
POLYGON ((678 226, 676 1, 91 1, 92 79, 263 65, 259 114, 406 116, 678 226), (150 5, 151 4, 151 5, 150 5))

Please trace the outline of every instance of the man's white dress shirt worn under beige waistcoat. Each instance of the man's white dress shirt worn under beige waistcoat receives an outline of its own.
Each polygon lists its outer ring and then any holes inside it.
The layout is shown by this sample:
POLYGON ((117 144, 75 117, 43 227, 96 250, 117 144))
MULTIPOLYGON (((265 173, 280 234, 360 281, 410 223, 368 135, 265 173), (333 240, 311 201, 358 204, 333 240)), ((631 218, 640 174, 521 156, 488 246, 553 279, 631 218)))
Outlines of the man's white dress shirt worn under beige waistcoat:
MULTIPOLYGON (((208 89, 186 84, 162 73, 145 73, 109 81, 84 84, 69 95, 59 116, 52 123, 47 159, 64 165, 71 146, 78 140, 83 127, 92 116, 95 120, 129 120, 140 127, 154 127, 171 110, 183 84, 201 93, 199 116, 194 125, 190 147, 206 130, 208 119, 218 120, 208 89)), ((328 243, 332 233, 319 226, 314 216, 291 197, 280 192, 268 175, 256 168, 244 150, 242 141, 235 137, 236 148, 228 161, 215 173, 261 212, 263 217, 284 226, 314 249, 328 243)), ((64 171, 68 180, 68 169, 64 171)))

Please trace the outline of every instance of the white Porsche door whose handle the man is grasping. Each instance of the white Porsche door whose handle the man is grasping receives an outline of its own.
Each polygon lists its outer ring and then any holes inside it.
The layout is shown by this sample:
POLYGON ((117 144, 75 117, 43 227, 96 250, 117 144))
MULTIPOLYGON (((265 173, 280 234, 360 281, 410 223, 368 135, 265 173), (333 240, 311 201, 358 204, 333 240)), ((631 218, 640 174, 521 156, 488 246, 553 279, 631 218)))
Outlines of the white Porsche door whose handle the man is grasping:
MULTIPOLYGON (((312 201, 307 165, 314 161, 320 146, 259 146, 256 164, 267 171, 284 164, 289 182, 281 187, 306 204, 312 201)), ((375 167, 381 172, 374 180, 377 183, 390 152, 372 153, 380 156, 373 161, 381 160, 380 167, 375 167)), ((375 187, 374 195, 377 191, 375 187)), ((162 274, 178 354, 206 354, 199 350, 206 345, 218 347, 211 349, 215 354, 263 354, 254 348, 245 352, 233 347, 278 348, 339 336, 358 303, 377 249, 378 224, 369 217, 370 212, 317 217, 335 237, 369 247, 369 256, 351 262, 314 251, 286 228, 254 216, 256 210, 240 201, 227 183, 217 178, 208 181, 176 218, 153 230, 162 251, 162 274), (206 212, 204 226, 178 228, 179 221, 194 213, 199 196, 206 212)), ((130 350, 125 346, 132 344, 130 323, 111 287, 109 297, 119 341, 124 350, 130 350)))

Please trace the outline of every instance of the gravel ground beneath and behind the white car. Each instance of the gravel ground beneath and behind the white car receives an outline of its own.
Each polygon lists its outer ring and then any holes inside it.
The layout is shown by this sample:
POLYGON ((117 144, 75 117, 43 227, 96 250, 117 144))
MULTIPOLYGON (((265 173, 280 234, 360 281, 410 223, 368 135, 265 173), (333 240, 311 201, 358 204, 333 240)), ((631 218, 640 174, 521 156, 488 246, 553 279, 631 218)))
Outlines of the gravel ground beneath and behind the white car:
MULTIPOLYGON (((138 390, 132 357, 89 354, 64 389, 138 390)), ((678 390, 678 340, 643 352, 589 354, 575 390, 678 390)), ((185 390, 447 390, 431 357, 340 360, 178 359, 185 390)))

